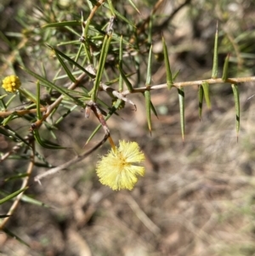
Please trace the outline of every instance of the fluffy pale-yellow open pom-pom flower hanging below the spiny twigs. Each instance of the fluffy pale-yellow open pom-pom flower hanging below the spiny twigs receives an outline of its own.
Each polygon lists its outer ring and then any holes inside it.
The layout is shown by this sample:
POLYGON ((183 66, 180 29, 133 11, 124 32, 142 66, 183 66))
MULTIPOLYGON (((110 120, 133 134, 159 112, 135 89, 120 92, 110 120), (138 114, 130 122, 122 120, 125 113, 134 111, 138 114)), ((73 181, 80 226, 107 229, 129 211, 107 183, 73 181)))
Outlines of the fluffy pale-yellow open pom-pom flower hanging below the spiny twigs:
POLYGON ((144 167, 137 164, 145 159, 136 142, 119 141, 116 149, 111 149, 102 156, 96 167, 99 181, 114 191, 127 189, 131 191, 137 183, 137 176, 144 176, 144 167))

